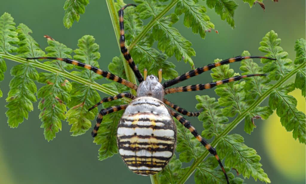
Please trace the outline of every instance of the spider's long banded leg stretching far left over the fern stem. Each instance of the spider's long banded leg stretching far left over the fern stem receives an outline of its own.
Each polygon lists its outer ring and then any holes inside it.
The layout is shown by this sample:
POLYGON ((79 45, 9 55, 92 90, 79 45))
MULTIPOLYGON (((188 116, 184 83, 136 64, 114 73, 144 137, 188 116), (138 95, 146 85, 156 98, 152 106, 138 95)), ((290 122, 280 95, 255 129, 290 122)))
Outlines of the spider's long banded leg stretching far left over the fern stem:
POLYGON ((73 64, 79 67, 86 68, 88 70, 94 71, 96 74, 102 75, 103 77, 113 80, 115 82, 118 82, 120 84, 123 84, 125 86, 128 86, 129 88, 132 88, 134 90, 137 90, 138 86, 132 82, 129 82, 125 79, 122 79, 121 77, 118 77, 117 75, 114 75, 108 71, 103 71, 100 68, 91 66, 89 64, 81 63, 79 61, 69 59, 69 58, 58 58, 58 57, 34 57, 34 58, 27 58, 27 59, 55 59, 55 60, 60 60, 64 61, 65 63, 73 64))

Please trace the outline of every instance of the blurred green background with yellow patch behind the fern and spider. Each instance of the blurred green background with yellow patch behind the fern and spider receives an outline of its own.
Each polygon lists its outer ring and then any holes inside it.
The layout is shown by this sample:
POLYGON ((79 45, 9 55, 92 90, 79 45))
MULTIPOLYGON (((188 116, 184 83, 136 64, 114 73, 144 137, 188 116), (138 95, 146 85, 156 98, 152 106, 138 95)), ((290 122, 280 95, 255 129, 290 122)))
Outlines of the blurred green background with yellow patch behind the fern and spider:
MULTIPOLYGON (((219 34, 214 31, 207 33, 205 40, 184 27, 181 20, 174 24, 181 34, 190 40, 196 51, 193 57, 196 67, 212 63, 214 59, 227 59, 240 55, 248 50, 252 55, 263 55, 258 51, 259 42, 271 29, 282 39, 281 46, 294 60, 294 42, 305 38, 305 1, 264 1, 266 10, 258 4, 250 8, 241 0, 235 11, 236 28, 232 29, 226 21, 221 21, 214 10, 207 10, 207 15, 215 24, 219 34)), ((200 2, 205 4, 205 2, 200 2)), ((114 56, 119 56, 117 41, 105 1, 90 1, 86 13, 81 15, 79 23, 72 28, 63 26, 64 1, 18 1, 0 2, 0 14, 10 13, 17 23, 24 23, 33 30, 32 36, 42 48, 47 47, 43 35, 47 34, 55 40, 75 49, 77 40, 83 35, 93 35, 100 45, 100 67, 107 65, 114 56)), ((177 62, 175 58, 168 59, 177 65, 179 74, 190 69, 188 64, 177 62)), ((260 62, 256 60, 256 62, 260 62)), ((119 155, 104 161, 98 161, 99 145, 92 143, 91 130, 82 136, 70 136, 68 123, 63 122, 62 131, 53 141, 47 142, 38 119, 38 103, 34 103, 34 112, 29 113, 18 128, 9 128, 5 115, 5 98, 9 91, 10 68, 16 62, 7 60, 8 71, 1 83, 3 98, 0 98, 0 183, 150 183, 149 177, 133 174, 125 166, 119 155)), ((238 72, 239 63, 231 65, 238 72)), ((40 72, 40 71, 39 71, 40 72)), ((105 82, 105 79, 99 81, 105 82)), ((181 85, 211 82, 207 72, 195 79, 182 82, 181 85), (203 80, 204 79, 204 80, 203 80)), ((38 87, 41 84, 38 84, 38 87)), ((213 90, 200 92, 178 93, 167 96, 169 100, 190 111, 195 111, 197 103, 195 95, 208 94, 215 97, 213 90)), ((292 93, 298 98, 299 110, 305 112, 305 99, 300 98, 299 90, 292 93)), ((101 94, 101 98, 106 96, 101 94)), ((267 102, 266 102, 267 103, 267 102)), ((188 119, 202 131, 197 118, 188 119)), ((93 121, 93 125, 95 121, 93 121)), ((257 128, 251 135, 243 132, 243 123, 231 133, 244 136, 245 144, 256 149, 262 160, 264 171, 272 183, 305 183, 305 146, 294 141, 291 132, 286 132, 279 123, 277 116, 272 115, 267 121, 256 121, 257 128)), ((210 140, 211 141, 211 140, 210 140)), ((193 177, 187 183, 194 183, 193 177)), ((253 178, 245 179, 245 183, 255 183, 253 178)), ((260 183, 260 181, 257 181, 260 183)))

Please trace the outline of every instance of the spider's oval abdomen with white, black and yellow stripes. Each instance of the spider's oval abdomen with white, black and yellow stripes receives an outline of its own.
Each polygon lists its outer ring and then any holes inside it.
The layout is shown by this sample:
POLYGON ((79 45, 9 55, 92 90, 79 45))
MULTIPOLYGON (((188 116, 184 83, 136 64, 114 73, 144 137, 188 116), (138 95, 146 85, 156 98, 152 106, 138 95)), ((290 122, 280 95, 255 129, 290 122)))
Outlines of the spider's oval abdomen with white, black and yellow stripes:
POLYGON ((117 129, 119 153, 136 174, 161 171, 176 146, 176 126, 160 100, 140 97, 125 109, 117 129))

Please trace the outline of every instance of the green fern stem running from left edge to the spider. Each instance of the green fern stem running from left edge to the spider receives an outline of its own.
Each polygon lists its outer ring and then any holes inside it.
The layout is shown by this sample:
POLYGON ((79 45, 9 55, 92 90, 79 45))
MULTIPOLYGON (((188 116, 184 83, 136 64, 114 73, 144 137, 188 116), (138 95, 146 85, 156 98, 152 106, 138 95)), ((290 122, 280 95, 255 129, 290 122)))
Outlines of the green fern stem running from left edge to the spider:
MULTIPOLYGON (((51 73, 60 73, 62 76, 64 76, 67 79, 71 79, 73 81, 79 82, 81 84, 85 84, 85 85, 90 85, 93 88, 95 88, 96 90, 99 90, 105 94, 111 95, 111 96, 115 96, 118 94, 118 91, 114 91, 114 90, 110 90, 96 82, 91 82, 90 80, 86 80, 84 78, 81 78, 77 75, 74 75, 72 73, 69 73, 68 71, 62 71, 59 68, 55 68, 55 67, 51 67, 48 66, 46 64, 43 63, 39 63, 38 61, 35 60, 27 60, 21 57, 17 57, 11 54, 5 54, 4 52, 0 52, 0 57, 4 58, 4 59, 9 59, 11 61, 16 61, 19 63, 31 63, 32 66, 36 67, 36 68, 40 68, 43 69, 45 71, 49 71, 51 73)), ((130 102, 130 99, 125 99, 126 101, 130 102)))

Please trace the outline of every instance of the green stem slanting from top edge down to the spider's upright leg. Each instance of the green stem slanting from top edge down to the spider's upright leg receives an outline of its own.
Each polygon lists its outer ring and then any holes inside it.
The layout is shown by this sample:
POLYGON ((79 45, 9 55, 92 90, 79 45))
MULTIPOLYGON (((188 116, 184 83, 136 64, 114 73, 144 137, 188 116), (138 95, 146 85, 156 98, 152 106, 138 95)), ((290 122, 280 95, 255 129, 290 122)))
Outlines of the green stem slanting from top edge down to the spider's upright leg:
POLYGON ((146 27, 144 27, 144 29, 142 30, 141 33, 139 33, 134 40, 132 40, 130 46, 129 46, 129 50, 132 50, 132 48, 140 41, 144 38, 144 36, 151 30, 151 28, 153 27, 153 25, 155 25, 156 21, 159 20, 160 18, 162 18, 162 16, 164 16, 169 10, 171 10, 176 3, 179 0, 174 0, 172 1, 164 10, 162 10, 159 14, 157 14, 155 17, 152 18, 152 20, 146 25, 146 27))

